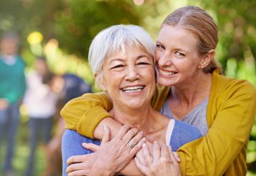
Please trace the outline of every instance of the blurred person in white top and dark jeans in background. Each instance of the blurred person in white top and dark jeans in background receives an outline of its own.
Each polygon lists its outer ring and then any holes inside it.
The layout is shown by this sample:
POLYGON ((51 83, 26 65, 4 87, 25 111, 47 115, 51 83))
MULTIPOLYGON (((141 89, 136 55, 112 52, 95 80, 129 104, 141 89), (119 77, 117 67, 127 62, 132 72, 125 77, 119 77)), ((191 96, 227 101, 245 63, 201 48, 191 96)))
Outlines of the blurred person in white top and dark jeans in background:
POLYGON ((53 77, 45 57, 37 57, 34 63, 34 71, 26 76, 28 88, 24 96, 24 105, 28 109, 30 117, 30 156, 26 169, 26 176, 33 175, 36 146, 43 138, 44 148, 51 140, 51 129, 53 127, 53 116, 58 93, 51 90, 47 84, 53 77))

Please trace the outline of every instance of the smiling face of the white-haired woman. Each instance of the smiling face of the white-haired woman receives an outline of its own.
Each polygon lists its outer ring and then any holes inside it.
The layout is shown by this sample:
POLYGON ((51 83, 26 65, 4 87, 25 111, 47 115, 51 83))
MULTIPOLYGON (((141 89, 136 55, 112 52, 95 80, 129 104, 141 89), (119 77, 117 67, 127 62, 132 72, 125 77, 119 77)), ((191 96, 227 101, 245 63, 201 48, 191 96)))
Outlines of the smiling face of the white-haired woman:
POLYGON ((136 47, 110 55, 103 65, 103 89, 118 107, 139 109, 150 105, 155 92, 153 58, 136 47))

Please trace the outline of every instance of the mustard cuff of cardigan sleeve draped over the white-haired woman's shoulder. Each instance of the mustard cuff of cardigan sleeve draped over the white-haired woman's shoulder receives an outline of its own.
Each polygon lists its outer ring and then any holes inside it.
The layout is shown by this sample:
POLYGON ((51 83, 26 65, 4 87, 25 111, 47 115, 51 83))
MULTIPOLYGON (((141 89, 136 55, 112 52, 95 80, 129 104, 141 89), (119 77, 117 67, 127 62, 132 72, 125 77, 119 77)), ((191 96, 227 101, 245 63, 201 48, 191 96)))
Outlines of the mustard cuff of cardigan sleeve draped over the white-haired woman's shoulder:
POLYGON ((76 129, 79 134, 94 139, 93 132, 95 131, 95 128, 106 117, 112 116, 107 113, 103 107, 92 107, 90 111, 86 111, 82 115, 82 118, 79 119, 76 129))

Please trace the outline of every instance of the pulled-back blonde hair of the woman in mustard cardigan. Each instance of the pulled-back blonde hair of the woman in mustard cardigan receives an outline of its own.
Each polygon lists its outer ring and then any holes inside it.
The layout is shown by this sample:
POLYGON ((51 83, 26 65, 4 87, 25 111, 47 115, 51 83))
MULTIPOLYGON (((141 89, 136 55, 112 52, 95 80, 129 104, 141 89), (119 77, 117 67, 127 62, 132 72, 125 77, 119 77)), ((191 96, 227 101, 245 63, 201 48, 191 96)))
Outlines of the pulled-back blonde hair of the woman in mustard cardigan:
MULTIPOLYGON (((201 57, 217 46, 217 25, 213 18, 200 7, 185 6, 176 9, 165 18, 161 27, 165 24, 180 26, 192 32, 197 37, 196 48, 201 57)), ((221 71, 221 66, 217 60, 213 58, 211 63, 203 68, 203 71, 205 73, 212 73, 215 69, 220 69, 221 71)))

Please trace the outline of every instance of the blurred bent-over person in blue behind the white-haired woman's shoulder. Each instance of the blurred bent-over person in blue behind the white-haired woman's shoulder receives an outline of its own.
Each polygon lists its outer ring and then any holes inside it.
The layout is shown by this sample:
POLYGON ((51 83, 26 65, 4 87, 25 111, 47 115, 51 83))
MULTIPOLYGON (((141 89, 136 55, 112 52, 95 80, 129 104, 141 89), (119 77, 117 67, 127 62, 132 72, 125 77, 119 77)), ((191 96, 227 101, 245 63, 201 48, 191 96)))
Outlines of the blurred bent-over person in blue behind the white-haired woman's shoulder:
POLYGON ((65 131, 65 122, 61 118, 60 110, 69 100, 91 92, 91 86, 74 74, 55 75, 49 80, 51 80, 49 82, 51 89, 53 92, 58 93, 59 97, 56 105, 55 117, 57 117, 57 123, 54 130, 55 133, 47 145, 47 167, 45 173, 43 173, 45 176, 61 175, 61 138, 65 131))

